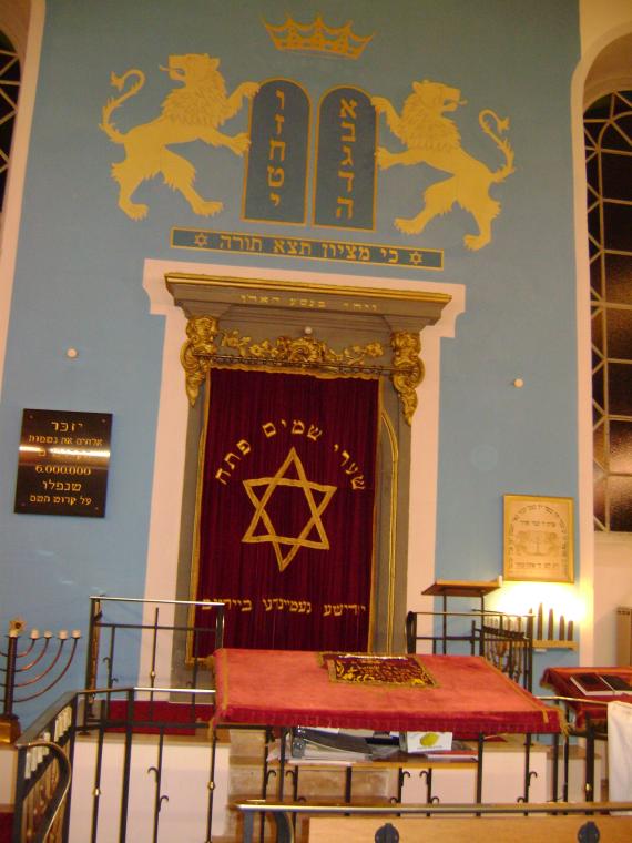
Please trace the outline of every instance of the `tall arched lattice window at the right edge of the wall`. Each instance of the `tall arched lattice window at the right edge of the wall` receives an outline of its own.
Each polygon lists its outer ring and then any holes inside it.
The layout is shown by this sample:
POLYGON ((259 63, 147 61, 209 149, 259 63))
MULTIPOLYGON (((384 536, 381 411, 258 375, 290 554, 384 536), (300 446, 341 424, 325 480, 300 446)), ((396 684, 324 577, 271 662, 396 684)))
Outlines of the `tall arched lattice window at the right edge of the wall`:
POLYGON ((632 91, 584 114, 594 526, 632 532, 632 91))

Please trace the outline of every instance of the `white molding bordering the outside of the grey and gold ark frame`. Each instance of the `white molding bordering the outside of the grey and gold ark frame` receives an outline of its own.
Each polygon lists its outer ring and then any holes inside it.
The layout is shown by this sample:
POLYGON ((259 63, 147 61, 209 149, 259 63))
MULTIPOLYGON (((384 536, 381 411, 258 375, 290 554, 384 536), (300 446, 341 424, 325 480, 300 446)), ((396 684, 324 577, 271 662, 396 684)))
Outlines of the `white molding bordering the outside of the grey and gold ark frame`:
MULTIPOLYGON (((268 278, 295 283, 322 283, 332 285, 387 287, 394 290, 447 293, 452 301, 446 305, 436 325, 424 328, 421 334, 426 376, 419 387, 419 407, 412 424, 412 454, 410 466, 410 512, 408 605, 418 601, 419 592, 435 573, 435 535, 437 516, 437 474, 439 440, 439 384, 440 339, 453 337, 456 319, 465 311, 466 292, 461 284, 408 281, 358 275, 338 275, 288 270, 253 268, 226 264, 190 264, 176 261, 144 263, 143 287, 150 298, 150 313, 165 317, 162 379, 156 427, 154 476, 151 499, 145 592, 147 599, 172 599, 175 595, 184 459, 188 405, 184 392, 184 372, 180 363, 180 348, 184 343, 186 319, 166 290, 164 276, 170 272, 230 277, 268 278)), ((147 608, 145 620, 151 621, 147 608)), ((169 623, 166 612, 161 619, 169 623)), ((171 648, 164 650, 165 662, 156 670, 169 676, 171 648), (167 652, 169 651, 169 652, 167 652)), ((143 647, 140 679, 146 676, 150 649, 143 647)))

